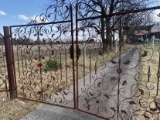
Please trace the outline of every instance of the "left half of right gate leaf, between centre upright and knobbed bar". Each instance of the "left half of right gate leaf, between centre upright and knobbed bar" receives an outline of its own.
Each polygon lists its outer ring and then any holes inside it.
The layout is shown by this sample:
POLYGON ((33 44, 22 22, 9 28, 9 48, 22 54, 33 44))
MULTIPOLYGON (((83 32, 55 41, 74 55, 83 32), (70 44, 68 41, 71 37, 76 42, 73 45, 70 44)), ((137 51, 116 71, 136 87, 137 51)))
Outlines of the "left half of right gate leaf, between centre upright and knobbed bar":
MULTIPOLYGON (((122 59, 121 56, 119 59, 120 46, 117 45, 117 48, 112 51, 109 49, 103 51, 100 34, 97 34, 95 29, 83 26, 89 21, 97 26, 100 23, 99 18, 77 23, 77 46, 81 50, 77 61, 78 109, 100 118, 116 120, 119 116, 117 110, 124 107, 124 99, 120 100, 118 97, 122 94, 122 89, 125 91, 121 84, 123 83, 125 87, 127 83, 125 75, 122 79, 121 73, 118 73, 121 72, 119 61, 122 59)), ((127 61, 123 60, 123 62, 127 61)))

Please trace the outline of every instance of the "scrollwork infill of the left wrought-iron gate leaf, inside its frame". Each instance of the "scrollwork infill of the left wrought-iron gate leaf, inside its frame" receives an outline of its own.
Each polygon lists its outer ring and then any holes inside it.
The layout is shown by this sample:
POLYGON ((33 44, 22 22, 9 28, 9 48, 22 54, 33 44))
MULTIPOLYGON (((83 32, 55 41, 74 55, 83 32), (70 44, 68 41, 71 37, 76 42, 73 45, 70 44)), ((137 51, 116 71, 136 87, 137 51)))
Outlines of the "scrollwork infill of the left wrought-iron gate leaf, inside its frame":
POLYGON ((74 107, 70 12, 65 21, 11 26, 18 98, 74 107))

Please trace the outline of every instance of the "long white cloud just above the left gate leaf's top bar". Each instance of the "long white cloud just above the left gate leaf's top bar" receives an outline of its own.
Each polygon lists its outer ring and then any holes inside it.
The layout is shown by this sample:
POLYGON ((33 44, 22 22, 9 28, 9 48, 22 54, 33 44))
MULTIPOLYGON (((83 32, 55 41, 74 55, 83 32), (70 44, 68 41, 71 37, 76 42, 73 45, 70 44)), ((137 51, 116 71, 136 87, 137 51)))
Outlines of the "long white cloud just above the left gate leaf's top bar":
POLYGON ((18 18, 21 19, 21 20, 24 20, 26 22, 30 22, 32 20, 36 20, 37 23, 41 23, 42 19, 44 19, 45 22, 49 22, 48 20, 46 20, 42 16, 40 17, 40 16, 36 16, 36 15, 33 15, 31 17, 27 17, 26 15, 18 15, 18 18))

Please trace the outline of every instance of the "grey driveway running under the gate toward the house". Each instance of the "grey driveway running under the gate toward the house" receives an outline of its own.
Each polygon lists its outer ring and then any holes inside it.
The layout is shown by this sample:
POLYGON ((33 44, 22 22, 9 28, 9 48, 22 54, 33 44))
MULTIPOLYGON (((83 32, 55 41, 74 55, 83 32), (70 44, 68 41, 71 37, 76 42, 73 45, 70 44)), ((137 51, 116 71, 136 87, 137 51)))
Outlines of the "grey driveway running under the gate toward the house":
MULTIPOLYGON (((107 118, 117 120, 128 119, 132 114, 130 102, 136 91, 135 76, 138 70, 139 51, 136 47, 127 50, 121 56, 120 68, 122 73, 118 74, 119 58, 114 59, 114 64, 109 62, 87 75, 86 86, 83 78, 79 80, 79 109, 98 114, 107 118), (90 76, 92 80, 90 81, 90 76), (118 84, 118 78, 119 84, 118 84), (119 102, 117 102, 117 90, 119 88, 119 102), (117 104, 119 113, 117 114, 117 104), (84 107, 87 106, 87 107, 84 107), (102 109, 102 108, 105 108, 102 109)), ((72 91, 73 86, 70 87, 72 91)), ((68 100, 72 100, 69 96, 68 100)), ((21 120, 101 120, 92 115, 52 105, 41 104, 35 111, 32 111, 21 120)))

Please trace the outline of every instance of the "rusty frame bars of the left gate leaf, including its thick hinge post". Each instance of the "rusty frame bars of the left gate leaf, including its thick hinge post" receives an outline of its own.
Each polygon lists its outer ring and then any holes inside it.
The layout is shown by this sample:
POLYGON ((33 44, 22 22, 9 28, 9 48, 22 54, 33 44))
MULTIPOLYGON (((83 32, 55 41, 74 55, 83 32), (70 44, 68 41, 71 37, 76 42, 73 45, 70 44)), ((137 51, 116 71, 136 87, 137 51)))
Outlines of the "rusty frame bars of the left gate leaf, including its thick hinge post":
POLYGON ((14 27, 23 27, 23 26, 36 26, 36 25, 47 25, 47 24, 59 24, 59 23, 70 23, 71 26, 71 54, 73 55, 73 59, 72 59, 72 66, 75 66, 75 61, 74 61, 74 56, 76 55, 74 53, 74 30, 73 30, 73 10, 72 10, 72 5, 70 5, 69 7, 69 12, 70 12, 70 17, 69 20, 64 20, 64 21, 51 21, 51 22, 47 22, 47 23, 33 23, 33 24, 26 24, 26 25, 12 25, 12 26, 4 26, 4 38, 5 38, 5 49, 7 49, 7 55, 6 55, 6 60, 7 60, 7 69, 8 69, 8 77, 9 77, 9 83, 10 83, 10 99, 23 99, 23 100, 28 100, 28 101, 35 101, 35 102, 39 102, 39 103, 44 103, 44 104, 50 104, 50 105, 54 105, 54 106, 59 106, 59 107, 64 107, 64 108, 69 108, 69 109, 77 109, 77 104, 76 104, 76 99, 78 99, 76 96, 76 78, 75 78, 75 67, 72 68, 72 72, 73 72, 73 106, 72 107, 68 107, 65 105, 59 105, 59 104, 54 104, 54 103, 47 103, 45 101, 39 101, 39 100, 32 100, 29 98, 23 98, 23 97, 19 97, 18 96, 18 91, 17 91, 17 84, 16 84, 16 74, 15 74, 15 60, 14 60, 14 52, 13 52, 13 44, 12 44, 12 28, 14 27), (8 49, 11 48, 11 49, 8 49), (7 57, 8 56, 8 57, 7 57), (8 60, 9 58, 9 60, 8 60), (10 69, 11 68, 11 69, 10 69))

